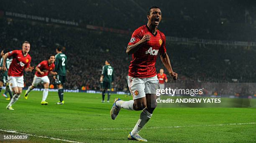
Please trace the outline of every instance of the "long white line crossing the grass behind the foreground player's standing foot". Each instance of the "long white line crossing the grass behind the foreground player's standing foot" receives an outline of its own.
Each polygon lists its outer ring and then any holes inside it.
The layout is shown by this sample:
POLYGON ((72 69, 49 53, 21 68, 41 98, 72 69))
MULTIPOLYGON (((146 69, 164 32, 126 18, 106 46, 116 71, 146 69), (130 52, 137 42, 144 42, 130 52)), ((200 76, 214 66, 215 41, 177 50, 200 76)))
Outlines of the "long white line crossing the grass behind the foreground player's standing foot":
MULTIPOLYGON (((227 123, 227 124, 215 124, 215 125, 194 125, 194 126, 166 126, 166 127, 148 127, 146 129, 151 128, 186 128, 186 127, 207 127, 207 126, 233 126, 233 125, 249 125, 249 124, 256 124, 256 123, 227 123)), ((92 131, 92 130, 131 130, 133 128, 84 128, 84 129, 71 129, 71 130, 39 130, 39 132, 45 131, 92 131)), ((36 131, 36 130, 33 130, 36 131)))

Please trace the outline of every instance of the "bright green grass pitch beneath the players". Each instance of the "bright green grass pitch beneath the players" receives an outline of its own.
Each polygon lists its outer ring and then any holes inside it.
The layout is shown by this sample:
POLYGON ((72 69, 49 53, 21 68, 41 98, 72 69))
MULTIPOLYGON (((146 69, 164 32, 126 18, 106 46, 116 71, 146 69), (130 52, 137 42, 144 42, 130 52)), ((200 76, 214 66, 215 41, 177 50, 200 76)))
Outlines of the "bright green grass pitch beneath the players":
MULTIPOLYGON (((141 112, 121 109, 116 120, 109 113, 115 97, 131 96, 111 95, 110 103, 101 103, 100 94, 64 93, 65 104, 56 105, 57 93, 49 92, 49 104, 42 106, 42 92, 31 91, 28 100, 23 94, 14 111, 0 97, 0 134, 35 135, 28 143, 136 142, 127 136, 141 112)), ((256 108, 156 108, 140 135, 149 143, 256 143, 256 108)))

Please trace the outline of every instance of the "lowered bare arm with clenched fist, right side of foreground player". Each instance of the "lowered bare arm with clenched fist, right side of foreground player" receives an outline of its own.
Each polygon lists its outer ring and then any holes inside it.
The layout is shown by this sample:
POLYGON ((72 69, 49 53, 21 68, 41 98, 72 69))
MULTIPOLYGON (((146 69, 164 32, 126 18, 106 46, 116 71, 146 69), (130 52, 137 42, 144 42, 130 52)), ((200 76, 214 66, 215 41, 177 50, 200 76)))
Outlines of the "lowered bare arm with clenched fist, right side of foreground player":
POLYGON ((168 54, 165 52, 164 54, 160 54, 160 57, 161 57, 162 63, 164 64, 164 67, 168 70, 170 76, 172 76, 172 79, 176 80, 178 77, 178 74, 173 72, 168 54))

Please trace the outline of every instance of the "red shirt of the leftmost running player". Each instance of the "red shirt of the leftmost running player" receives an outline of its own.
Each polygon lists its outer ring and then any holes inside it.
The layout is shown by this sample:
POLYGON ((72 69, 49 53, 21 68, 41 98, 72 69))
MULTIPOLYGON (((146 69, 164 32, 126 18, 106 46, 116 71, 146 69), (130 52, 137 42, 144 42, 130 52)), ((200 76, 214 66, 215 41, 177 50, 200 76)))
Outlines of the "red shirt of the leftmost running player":
POLYGON ((22 50, 13 50, 9 52, 8 57, 13 57, 13 62, 8 70, 8 76, 23 76, 23 69, 30 67, 30 55, 24 56, 22 50))

